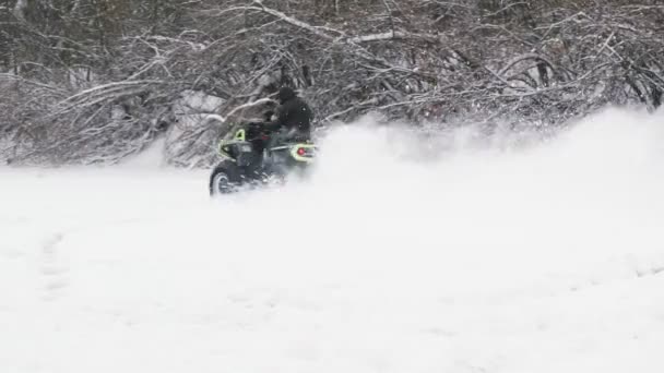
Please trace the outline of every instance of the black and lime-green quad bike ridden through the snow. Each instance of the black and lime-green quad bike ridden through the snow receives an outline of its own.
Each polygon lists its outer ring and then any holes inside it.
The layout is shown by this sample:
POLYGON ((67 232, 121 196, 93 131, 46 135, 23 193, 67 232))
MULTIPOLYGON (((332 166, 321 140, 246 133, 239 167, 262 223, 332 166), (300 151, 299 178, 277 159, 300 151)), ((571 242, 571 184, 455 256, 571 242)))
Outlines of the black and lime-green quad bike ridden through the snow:
POLYGON ((306 172, 313 163, 316 145, 297 141, 269 145, 272 134, 260 122, 234 125, 220 141, 222 159, 210 175, 210 195, 283 183, 292 172, 306 172))

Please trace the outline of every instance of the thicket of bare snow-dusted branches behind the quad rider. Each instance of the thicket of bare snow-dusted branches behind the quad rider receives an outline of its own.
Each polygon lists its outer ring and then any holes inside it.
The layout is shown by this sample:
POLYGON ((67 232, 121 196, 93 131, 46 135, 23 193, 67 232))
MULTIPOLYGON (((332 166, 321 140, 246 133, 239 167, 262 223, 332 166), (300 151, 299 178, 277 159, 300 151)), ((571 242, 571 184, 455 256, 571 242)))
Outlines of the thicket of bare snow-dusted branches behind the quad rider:
POLYGON ((661 0, 0 0, 0 159, 116 161, 165 132, 171 163, 208 166, 222 128, 182 111, 281 85, 319 127, 559 124, 661 106, 663 64, 661 0))

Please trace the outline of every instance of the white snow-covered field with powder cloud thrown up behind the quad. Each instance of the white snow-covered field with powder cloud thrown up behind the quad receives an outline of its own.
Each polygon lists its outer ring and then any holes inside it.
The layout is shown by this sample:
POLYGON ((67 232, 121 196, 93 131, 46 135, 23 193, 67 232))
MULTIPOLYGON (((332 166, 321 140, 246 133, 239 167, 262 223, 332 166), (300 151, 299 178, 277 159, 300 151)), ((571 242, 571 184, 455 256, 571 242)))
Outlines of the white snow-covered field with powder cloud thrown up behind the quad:
POLYGON ((467 139, 339 129, 216 201, 158 154, 0 169, 0 372, 663 372, 664 113, 467 139))

